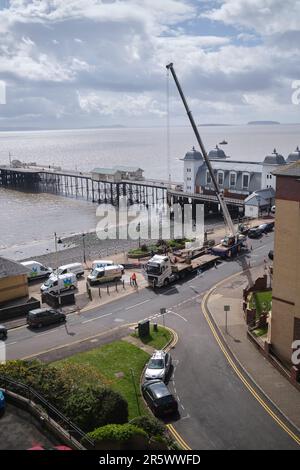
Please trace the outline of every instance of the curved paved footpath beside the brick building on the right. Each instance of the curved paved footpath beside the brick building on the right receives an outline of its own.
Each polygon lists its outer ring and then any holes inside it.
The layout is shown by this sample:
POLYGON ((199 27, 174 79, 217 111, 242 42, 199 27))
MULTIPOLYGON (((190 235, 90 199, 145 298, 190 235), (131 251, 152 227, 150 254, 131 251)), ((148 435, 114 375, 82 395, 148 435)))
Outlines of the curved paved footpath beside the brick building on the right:
POLYGON ((299 391, 257 350, 247 338, 247 325, 242 310, 242 292, 249 279, 263 276, 264 268, 250 269, 221 282, 208 294, 203 308, 214 319, 224 340, 252 380, 289 420, 300 429, 299 391), (225 326, 224 305, 230 306, 225 326))

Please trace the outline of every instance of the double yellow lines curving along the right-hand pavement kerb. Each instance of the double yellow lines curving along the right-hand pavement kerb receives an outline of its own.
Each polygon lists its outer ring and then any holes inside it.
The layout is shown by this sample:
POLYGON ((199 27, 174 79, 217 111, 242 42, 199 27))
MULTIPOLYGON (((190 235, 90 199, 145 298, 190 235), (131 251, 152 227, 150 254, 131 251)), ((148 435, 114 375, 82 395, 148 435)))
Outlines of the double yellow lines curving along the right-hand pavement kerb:
MULTIPOLYGON (((230 278, 227 278, 225 281, 228 281, 229 279, 236 277, 237 275, 233 275, 230 278)), ((225 282, 224 280, 220 282, 219 284, 222 284, 225 282)), ((211 289, 209 292, 207 292, 203 298, 202 301, 202 312, 203 315, 212 331, 212 334, 214 335, 218 345, 220 346, 221 351, 223 352, 224 356, 226 357, 227 361, 231 365, 232 369, 235 371, 239 379, 243 382, 243 384, 246 386, 246 388, 249 390, 249 392, 253 395, 253 397, 260 403, 260 405, 266 410, 266 412, 276 421, 276 423, 298 444, 300 445, 300 438, 291 430, 288 428, 286 424, 271 410, 271 408, 267 405, 267 403, 259 396, 259 394, 256 392, 256 390, 252 387, 252 385, 248 382, 248 380, 244 377, 244 375, 241 373, 239 368, 236 366, 235 362, 232 360, 230 357, 226 347, 224 346, 223 342, 221 341, 217 330, 212 323, 209 314, 206 309, 206 302, 209 297, 209 295, 215 290, 215 288, 219 285, 217 284, 213 289, 211 289)))

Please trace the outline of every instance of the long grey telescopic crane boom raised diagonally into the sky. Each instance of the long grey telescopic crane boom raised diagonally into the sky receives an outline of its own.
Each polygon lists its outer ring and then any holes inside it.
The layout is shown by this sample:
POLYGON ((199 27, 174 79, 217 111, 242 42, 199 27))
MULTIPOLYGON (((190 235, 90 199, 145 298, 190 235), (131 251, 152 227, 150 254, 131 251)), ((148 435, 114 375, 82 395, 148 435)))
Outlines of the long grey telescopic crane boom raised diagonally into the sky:
POLYGON ((226 225, 227 225, 227 227, 228 227, 228 229, 229 229, 229 231, 230 231, 230 235, 231 235, 231 236, 235 236, 234 225, 233 225, 233 222, 232 222, 232 219, 231 219, 231 216, 230 216, 228 207, 227 207, 227 205, 226 205, 226 202, 224 201, 223 194, 222 194, 222 192, 220 191, 220 188, 219 188, 217 179, 216 179, 216 177, 215 177, 215 174, 214 174, 214 171, 213 171, 211 162, 210 162, 210 160, 209 160, 209 158, 208 158, 206 149, 205 149, 205 147, 204 147, 204 144, 203 144, 203 142, 202 142, 202 139, 201 139, 201 136, 200 136, 200 134, 199 134, 198 128, 197 128, 196 123, 195 123, 195 121, 194 121, 192 112, 191 112, 191 110, 190 110, 189 107, 188 107, 188 104, 187 104, 187 101, 186 101, 186 99, 185 99, 184 93, 183 93, 183 91, 182 91, 182 88, 181 88, 180 83, 179 83, 179 81, 178 81, 177 75, 176 75, 176 73, 175 73, 175 70, 174 70, 174 67, 173 67, 173 63, 168 64, 166 67, 167 67, 167 69, 170 70, 171 73, 172 73, 172 76, 173 76, 173 78, 174 78, 174 81, 175 81, 176 87, 177 87, 177 89, 178 89, 179 95, 180 95, 180 97, 181 97, 181 99, 182 99, 183 105, 184 105, 185 110, 186 110, 186 112, 187 112, 188 118, 189 118, 189 120, 190 120, 191 126, 192 126, 193 131, 194 131, 194 134, 195 134, 195 136, 196 136, 197 142, 198 142, 199 147, 200 147, 200 149, 201 149, 203 158, 204 158, 205 163, 206 163, 206 165, 207 165, 207 168, 208 168, 208 171, 209 171, 211 180, 212 180, 212 182, 213 182, 213 185, 214 185, 214 188, 215 188, 215 192, 216 192, 216 196, 217 196, 218 201, 219 201, 219 204, 220 204, 220 206, 221 206, 221 208, 222 208, 222 212, 223 212, 223 215, 224 215, 224 219, 225 219, 226 225))

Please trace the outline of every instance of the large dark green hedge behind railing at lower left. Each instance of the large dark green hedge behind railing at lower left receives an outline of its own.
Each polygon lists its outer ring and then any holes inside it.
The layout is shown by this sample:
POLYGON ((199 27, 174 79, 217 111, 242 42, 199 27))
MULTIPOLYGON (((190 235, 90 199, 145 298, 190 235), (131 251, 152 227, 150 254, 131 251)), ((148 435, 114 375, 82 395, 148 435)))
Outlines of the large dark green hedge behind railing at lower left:
MULTIPOLYGON (((69 369, 39 361, 9 361, 0 365, 0 374, 32 387, 85 432, 106 424, 126 423, 127 401, 102 385, 78 383, 76 372, 83 379, 83 369, 79 364, 69 369)), ((21 388, 14 391, 24 394, 21 388)))

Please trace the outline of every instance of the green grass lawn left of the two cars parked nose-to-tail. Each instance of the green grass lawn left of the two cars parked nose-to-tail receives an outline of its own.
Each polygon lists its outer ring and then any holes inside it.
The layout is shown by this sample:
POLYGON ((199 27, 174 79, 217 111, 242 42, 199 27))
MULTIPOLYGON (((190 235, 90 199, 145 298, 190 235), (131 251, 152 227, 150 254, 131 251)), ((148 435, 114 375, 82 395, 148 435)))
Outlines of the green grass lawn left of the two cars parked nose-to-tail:
POLYGON ((59 364, 86 364, 106 379, 107 385, 118 391, 128 402, 129 420, 139 416, 138 405, 134 390, 134 383, 138 394, 141 414, 148 414, 140 395, 139 381, 149 354, 126 341, 114 341, 100 348, 92 349, 84 353, 56 362, 59 364), (133 370, 134 382, 131 375, 133 370))

